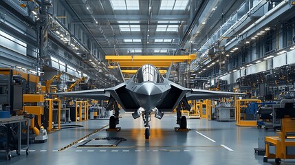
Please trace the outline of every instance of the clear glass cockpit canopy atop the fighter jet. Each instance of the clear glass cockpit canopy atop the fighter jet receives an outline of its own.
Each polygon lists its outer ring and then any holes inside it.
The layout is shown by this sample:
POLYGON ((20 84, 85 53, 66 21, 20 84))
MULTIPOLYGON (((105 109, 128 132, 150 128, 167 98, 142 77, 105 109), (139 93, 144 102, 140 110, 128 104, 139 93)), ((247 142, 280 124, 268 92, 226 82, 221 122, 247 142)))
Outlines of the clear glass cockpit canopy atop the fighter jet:
POLYGON ((134 77, 134 83, 143 83, 151 81, 154 83, 163 83, 163 77, 159 70, 151 64, 142 65, 134 77))

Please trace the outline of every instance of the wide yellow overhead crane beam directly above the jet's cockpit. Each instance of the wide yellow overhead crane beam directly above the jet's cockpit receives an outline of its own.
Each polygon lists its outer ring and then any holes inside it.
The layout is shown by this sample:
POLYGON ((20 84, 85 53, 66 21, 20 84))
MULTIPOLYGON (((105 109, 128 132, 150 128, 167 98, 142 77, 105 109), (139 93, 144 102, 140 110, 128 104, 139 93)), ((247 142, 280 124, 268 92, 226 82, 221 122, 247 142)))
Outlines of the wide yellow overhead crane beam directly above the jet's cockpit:
MULTIPOLYGON (((150 63, 155 67, 169 67, 171 63, 179 63, 183 61, 195 60, 196 54, 184 55, 184 56, 105 56, 105 59, 111 62, 120 63, 120 67, 141 67, 146 63, 150 63)), ((109 67, 110 68, 110 67, 109 67)))

